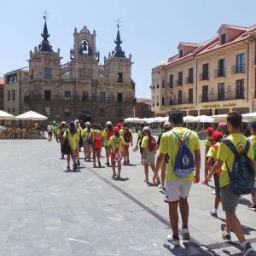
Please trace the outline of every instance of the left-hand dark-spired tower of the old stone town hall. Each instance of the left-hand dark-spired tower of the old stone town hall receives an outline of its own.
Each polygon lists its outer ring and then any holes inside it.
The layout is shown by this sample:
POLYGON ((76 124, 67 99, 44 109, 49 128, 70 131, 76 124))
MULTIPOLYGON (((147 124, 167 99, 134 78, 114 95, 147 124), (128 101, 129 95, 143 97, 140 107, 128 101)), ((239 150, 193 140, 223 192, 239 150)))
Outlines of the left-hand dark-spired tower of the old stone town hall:
POLYGON ((58 80, 60 79, 61 57, 60 49, 54 52, 49 44, 49 33, 44 15, 44 31, 41 34, 42 43, 30 51, 29 78, 30 80, 58 80))

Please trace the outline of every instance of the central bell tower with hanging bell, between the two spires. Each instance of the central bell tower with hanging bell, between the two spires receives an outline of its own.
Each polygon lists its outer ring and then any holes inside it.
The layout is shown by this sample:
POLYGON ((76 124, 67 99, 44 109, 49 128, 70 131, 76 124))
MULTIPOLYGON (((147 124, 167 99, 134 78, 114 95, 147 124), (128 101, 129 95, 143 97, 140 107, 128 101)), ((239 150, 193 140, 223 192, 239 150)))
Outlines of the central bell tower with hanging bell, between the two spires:
POLYGON ((74 45, 70 50, 72 79, 87 80, 98 77, 99 53, 96 52, 96 31, 90 33, 84 26, 80 32, 73 32, 74 45))

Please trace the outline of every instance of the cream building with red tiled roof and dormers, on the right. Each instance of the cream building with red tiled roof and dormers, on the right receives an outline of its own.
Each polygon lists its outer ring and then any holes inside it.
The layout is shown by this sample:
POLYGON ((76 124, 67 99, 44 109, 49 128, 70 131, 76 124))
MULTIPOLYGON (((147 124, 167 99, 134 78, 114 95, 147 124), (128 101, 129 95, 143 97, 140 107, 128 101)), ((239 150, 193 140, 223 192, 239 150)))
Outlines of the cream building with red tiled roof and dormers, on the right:
POLYGON ((155 115, 256 111, 256 25, 222 25, 201 44, 183 43, 178 53, 152 69, 155 115))

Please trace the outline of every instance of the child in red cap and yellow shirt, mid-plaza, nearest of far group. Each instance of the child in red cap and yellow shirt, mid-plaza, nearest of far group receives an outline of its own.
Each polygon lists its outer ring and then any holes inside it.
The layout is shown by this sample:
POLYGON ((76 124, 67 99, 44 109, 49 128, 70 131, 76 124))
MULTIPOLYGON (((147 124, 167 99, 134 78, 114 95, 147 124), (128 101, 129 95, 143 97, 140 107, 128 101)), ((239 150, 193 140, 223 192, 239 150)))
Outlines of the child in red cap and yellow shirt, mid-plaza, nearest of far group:
POLYGON ((122 149, 125 144, 125 140, 119 134, 119 128, 113 128, 113 136, 109 139, 109 147, 111 150, 111 165, 113 169, 113 178, 120 178, 121 173, 121 160, 122 160, 122 149), (118 164, 118 174, 115 172, 115 163, 118 164))

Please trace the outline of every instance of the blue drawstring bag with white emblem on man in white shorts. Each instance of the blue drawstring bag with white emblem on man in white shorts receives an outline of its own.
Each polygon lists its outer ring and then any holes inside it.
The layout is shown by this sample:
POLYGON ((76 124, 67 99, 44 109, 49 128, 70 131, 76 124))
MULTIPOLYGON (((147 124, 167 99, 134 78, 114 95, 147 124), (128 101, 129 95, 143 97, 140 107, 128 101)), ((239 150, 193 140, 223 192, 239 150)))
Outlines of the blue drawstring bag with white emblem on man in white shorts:
POLYGON ((183 138, 178 137, 177 133, 175 133, 174 131, 172 132, 177 137, 177 140, 179 142, 179 148, 177 151, 175 164, 173 165, 172 163, 173 171, 178 177, 187 177, 191 172, 195 171, 194 154, 191 152, 191 150, 188 147, 191 131, 189 132, 188 137, 185 137, 185 134, 184 134, 183 138))

